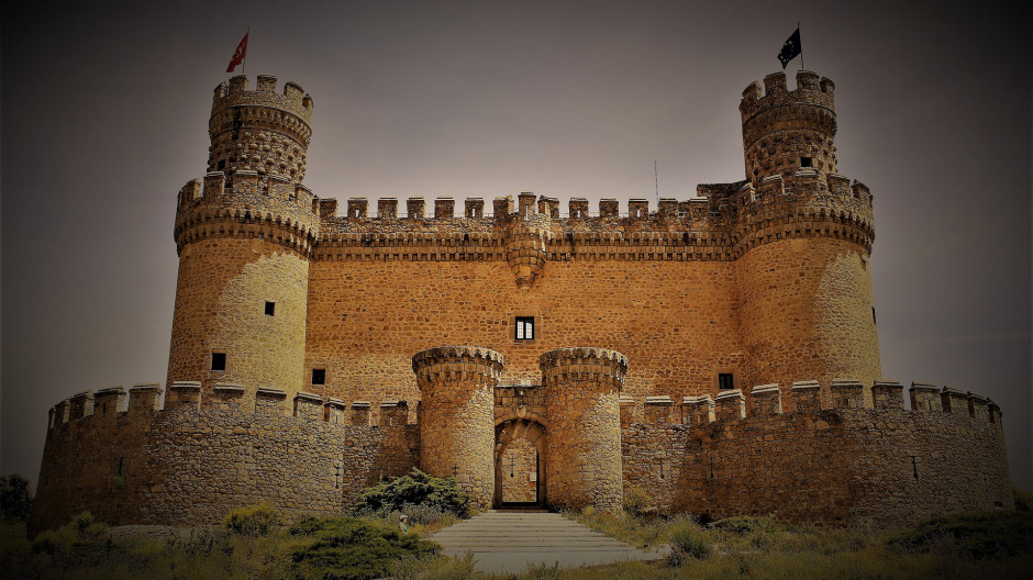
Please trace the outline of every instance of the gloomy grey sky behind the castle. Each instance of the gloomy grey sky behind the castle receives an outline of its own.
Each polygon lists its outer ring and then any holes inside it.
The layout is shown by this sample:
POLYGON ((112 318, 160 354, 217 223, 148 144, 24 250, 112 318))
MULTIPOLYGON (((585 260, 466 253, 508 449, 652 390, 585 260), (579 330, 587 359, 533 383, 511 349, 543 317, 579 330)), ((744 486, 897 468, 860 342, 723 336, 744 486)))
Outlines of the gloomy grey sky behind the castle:
POLYGON ((176 192, 248 25, 247 74, 315 100, 318 196, 566 208, 653 199, 654 159, 662 197, 742 179, 740 96, 799 20, 875 197, 884 377, 990 395, 1033 488, 1025 2, 30 4, 2 18, 2 473, 35 481, 60 399, 164 382, 176 192))

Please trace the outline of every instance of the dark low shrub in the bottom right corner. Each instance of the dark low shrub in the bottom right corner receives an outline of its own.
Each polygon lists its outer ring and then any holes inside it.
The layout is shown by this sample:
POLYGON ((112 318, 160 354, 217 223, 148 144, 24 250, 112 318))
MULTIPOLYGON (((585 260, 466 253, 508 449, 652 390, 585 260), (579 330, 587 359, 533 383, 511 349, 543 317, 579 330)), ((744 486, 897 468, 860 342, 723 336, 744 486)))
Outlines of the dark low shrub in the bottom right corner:
POLYGON ((914 554, 947 551, 975 560, 1030 554, 1033 553, 1033 514, 985 512, 933 517, 891 536, 887 546, 914 554))

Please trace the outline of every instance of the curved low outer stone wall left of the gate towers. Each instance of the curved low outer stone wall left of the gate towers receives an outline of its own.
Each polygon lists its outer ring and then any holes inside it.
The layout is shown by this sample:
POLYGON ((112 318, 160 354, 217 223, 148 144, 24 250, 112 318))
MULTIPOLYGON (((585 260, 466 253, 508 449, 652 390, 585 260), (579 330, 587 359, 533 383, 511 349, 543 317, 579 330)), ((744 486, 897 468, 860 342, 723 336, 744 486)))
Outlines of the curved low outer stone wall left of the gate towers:
MULTIPOLYGON (((234 507, 273 503, 288 520, 331 514, 381 477, 419 465, 419 425, 355 426, 290 416, 282 398, 105 412, 47 432, 31 529, 82 510, 113 525, 220 524, 234 507), (121 472, 120 477, 119 473, 121 472)), ((149 399, 148 399, 149 401, 149 399)), ((99 411, 99 408, 98 408, 99 411)))

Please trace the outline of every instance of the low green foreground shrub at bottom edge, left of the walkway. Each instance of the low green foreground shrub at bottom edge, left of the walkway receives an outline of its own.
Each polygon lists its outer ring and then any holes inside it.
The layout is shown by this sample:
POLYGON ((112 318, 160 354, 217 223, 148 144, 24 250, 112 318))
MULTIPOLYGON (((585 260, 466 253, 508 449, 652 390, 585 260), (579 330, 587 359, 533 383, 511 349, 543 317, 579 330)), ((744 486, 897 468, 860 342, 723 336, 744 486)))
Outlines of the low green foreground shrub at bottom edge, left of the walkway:
POLYGON ((415 534, 354 517, 313 517, 289 532, 304 539, 290 550, 290 559, 306 579, 380 578, 403 558, 429 558, 440 549, 415 534))

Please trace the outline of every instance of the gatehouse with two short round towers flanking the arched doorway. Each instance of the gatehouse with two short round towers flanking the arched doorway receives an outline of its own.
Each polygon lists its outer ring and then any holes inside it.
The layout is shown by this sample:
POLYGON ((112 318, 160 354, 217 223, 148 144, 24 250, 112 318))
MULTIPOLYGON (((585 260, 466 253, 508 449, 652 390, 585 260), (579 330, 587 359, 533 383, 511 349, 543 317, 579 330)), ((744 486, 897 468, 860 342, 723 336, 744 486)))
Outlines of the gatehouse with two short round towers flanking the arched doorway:
POLYGON ((540 357, 541 386, 500 386, 503 365, 500 353, 468 345, 413 355, 421 469, 455 477, 480 507, 620 511, 624 355, 549 350, 540 357))

